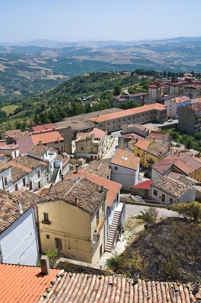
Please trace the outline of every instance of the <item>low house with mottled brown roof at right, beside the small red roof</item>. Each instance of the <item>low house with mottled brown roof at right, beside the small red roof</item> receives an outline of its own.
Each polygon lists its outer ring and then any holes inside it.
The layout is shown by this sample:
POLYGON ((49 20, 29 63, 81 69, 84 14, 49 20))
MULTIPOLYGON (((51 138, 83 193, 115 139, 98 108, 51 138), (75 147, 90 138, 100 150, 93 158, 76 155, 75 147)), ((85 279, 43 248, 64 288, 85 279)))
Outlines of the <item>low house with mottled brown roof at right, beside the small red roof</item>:
POLYGON ((150 196, 152 200, 169 204, 191 202, 195 199, 195 189, 168 176, 159 176, 152 182, 150 196))

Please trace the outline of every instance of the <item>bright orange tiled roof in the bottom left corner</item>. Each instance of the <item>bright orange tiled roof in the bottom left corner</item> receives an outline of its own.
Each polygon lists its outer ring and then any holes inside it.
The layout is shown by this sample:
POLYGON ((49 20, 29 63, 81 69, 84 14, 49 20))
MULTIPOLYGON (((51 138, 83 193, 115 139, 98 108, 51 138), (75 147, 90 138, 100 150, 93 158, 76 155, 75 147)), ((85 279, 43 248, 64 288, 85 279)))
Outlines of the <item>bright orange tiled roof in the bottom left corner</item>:
POLYGON ((40 267, 0 264, 0 301, 5 303, 36 303, 60 270, 51 269, 42 275, 40 267))

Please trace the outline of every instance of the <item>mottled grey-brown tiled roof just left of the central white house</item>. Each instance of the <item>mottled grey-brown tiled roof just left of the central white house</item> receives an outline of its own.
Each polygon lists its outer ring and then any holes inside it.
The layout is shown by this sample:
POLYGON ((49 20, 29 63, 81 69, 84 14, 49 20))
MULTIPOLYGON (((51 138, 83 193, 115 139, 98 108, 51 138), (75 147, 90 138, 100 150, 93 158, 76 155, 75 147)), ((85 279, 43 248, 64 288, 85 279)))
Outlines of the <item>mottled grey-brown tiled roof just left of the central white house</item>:
POLYGON ((93 175, 107 178, 111 174, 110 162, 112 158, 93 160, 89 165, 85 165, 83 170, 93 175))

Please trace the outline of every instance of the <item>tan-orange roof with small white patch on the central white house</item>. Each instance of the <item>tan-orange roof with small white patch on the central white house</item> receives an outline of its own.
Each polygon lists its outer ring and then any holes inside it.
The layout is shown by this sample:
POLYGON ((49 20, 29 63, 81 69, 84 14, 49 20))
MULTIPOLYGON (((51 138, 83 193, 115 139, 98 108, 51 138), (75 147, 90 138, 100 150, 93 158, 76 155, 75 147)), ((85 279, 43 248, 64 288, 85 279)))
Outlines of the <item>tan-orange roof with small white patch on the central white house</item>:
POLYGON ((111 161, 112 164, 123 166, 132 170, 137 170, 140 158, 130 151, 117 148, 111 161))

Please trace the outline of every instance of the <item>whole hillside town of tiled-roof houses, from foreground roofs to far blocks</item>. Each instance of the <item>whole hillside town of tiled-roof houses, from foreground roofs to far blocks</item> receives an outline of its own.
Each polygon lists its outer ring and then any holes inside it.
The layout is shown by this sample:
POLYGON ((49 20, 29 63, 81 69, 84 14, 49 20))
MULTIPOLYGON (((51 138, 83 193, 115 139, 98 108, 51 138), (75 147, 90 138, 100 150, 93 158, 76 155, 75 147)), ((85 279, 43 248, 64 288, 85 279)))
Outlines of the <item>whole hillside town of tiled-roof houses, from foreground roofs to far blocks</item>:
POLYGON ((201 79, 149 80, 2 131, 2 303, 200 302, 201 79))

